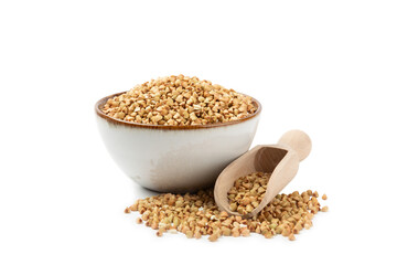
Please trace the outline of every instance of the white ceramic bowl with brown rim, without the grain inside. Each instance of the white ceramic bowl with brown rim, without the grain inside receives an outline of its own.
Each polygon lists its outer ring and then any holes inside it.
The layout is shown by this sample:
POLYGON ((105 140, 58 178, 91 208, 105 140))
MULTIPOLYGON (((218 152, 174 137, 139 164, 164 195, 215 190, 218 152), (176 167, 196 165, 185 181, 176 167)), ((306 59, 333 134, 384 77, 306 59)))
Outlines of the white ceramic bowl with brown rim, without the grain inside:
POLYGON ((221 171, 249 149, 261 106, 237 121, 161 126, 124 121, 105 115, 110 95, 95 105, 99 132, 121 170, 140 186, 160 192, 186 192, 215 183, 221 171))

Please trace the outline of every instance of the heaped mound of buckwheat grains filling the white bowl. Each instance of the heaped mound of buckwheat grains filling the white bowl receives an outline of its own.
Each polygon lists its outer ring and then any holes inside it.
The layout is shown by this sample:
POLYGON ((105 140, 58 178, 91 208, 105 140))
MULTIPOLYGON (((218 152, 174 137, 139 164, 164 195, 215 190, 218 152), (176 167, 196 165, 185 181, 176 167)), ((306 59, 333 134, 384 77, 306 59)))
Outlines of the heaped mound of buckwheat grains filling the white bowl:
POLYGON ((103 112, 126 121, 189 126, 238 120, 254 114, 256 106, 251 97, 210 81, 171 75, 109 98, 103 112))

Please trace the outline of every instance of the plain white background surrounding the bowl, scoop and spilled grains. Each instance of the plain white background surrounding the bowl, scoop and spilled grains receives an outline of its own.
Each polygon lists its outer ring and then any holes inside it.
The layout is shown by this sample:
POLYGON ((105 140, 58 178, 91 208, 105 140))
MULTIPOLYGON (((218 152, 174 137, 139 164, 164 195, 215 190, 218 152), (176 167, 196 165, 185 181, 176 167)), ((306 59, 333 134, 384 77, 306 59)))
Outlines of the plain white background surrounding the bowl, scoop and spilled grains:
MULTIPOLYGON (((1 1, 0 264, 396 263, 396 1, 1 1), (329 195, 297 241, 135 223, 97 99, 197 76, 258 98, 254 141, 313 141, 286 192, 329 195)), ((144 150, 142 150, 144 151, 144 150)))

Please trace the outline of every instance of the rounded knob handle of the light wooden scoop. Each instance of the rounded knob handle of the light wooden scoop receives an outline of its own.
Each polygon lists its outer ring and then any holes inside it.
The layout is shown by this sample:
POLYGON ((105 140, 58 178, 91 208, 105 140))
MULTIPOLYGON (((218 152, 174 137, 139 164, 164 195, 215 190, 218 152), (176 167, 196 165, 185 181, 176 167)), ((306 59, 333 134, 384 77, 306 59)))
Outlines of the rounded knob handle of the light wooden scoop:
POLYGON ((289 146, 298 153, 299 161, 305 159, 311 150, 310 137, 302 130, 289 130, 281 136, 279 145, 289 146))

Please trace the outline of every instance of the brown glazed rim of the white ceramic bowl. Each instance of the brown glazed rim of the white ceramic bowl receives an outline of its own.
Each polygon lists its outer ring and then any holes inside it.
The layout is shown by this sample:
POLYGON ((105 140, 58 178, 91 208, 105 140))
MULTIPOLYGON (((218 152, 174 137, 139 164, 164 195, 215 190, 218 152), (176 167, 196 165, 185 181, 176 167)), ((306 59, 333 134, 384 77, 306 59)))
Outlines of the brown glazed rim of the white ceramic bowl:
MULTIPOLYGON (((261 112, 261 105, 260 103, 254 98, 250 97, 254 102, 254 105, 257 106, 257 109, 255 113, 248 115, 247 117, 244 117, 242 119, 237 119, 237 120, 230 120, 230 121, 226 121, 226 123, 217 123, 217 124, 206 124, 206 125, 186 125, 186 126, 180 126, 180 125, 150 125, 150 124, 139 124, 139 123, 133 123, 133 121, 127 121, 127 120, 122 120, 122 119, 117 119, 114 117, 110 117, 108 115, 106 115, 103 110, 101 107, 105 105, 105 103, 110 98, 110 97, 115 97, 115 96, 119 96, 121 94, 124 94, 126 92, 119 92, 119 93, 115 93, 112 95, 106 96, 100 98, 96 104, 95 104, 95 113, 106 119, 107 121, 115 124, 115 125, 125 125, 125 126, 130 126, 130 127, 138 127, 138 128, 148 128, 148 129, 164 129, 164 130, 192 130, 192 129, 208 129, 208 128, 216 128, 216 127, 224 127, 224 126, 229 126, 229 125, 236 125, 236 124, 242 124, 244 121, 247 121, 256 116, 258 116, 261 112)), ((239 93, 242 95, 245 95, 243 93, 239 93)))

